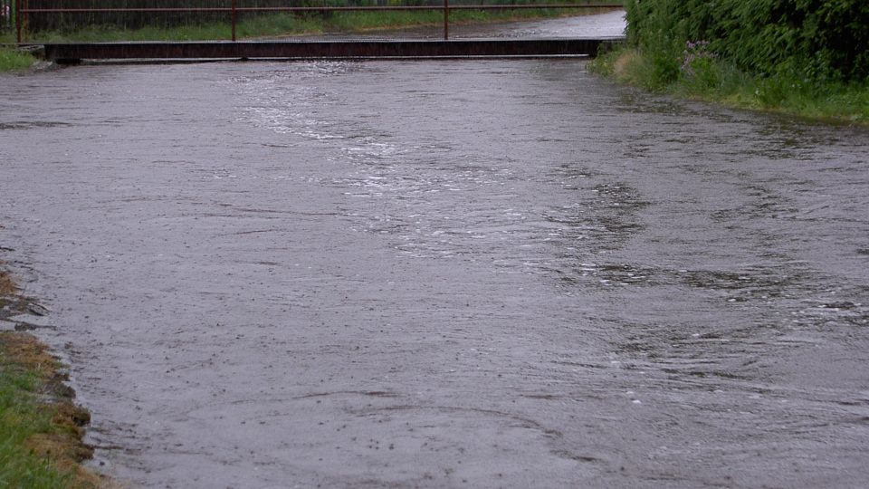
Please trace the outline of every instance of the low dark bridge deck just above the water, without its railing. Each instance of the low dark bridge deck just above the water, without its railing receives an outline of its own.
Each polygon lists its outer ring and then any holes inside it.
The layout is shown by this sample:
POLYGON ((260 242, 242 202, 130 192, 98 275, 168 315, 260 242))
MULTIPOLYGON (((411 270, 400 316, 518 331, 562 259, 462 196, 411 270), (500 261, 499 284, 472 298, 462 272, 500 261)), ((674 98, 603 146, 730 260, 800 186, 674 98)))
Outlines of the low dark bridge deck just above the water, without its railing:
POLYGON ((81 60, 347 59, 594 56, 609 39, 48 43, 45 58, 81 60))

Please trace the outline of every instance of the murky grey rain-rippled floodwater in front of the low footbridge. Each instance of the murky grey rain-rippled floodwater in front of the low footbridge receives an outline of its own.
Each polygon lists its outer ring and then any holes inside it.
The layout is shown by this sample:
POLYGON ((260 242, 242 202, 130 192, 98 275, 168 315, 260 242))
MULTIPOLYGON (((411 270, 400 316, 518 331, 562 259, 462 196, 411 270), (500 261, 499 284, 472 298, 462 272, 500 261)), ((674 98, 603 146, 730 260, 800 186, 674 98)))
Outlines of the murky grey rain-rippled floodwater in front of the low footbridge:
POLYGON ((142 487, 860 487, 869 131, 577 60, 0 77, 0 259, 142 487))

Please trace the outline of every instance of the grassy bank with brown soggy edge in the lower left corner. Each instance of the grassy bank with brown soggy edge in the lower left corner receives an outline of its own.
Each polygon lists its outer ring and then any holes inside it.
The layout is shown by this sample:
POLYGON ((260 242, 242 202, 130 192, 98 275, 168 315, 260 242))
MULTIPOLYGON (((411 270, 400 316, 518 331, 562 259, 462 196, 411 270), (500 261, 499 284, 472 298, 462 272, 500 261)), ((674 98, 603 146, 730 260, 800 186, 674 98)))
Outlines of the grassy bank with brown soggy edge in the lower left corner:
MULTIPOLYGON (((0 271, 0 317, 28 304, 0 271)), ((0 331, 0 487, 106 485, 79 465, 92 454, 81 442, 90 417, 72 403, 64 379, 62 365, 32 335, 0 331)))

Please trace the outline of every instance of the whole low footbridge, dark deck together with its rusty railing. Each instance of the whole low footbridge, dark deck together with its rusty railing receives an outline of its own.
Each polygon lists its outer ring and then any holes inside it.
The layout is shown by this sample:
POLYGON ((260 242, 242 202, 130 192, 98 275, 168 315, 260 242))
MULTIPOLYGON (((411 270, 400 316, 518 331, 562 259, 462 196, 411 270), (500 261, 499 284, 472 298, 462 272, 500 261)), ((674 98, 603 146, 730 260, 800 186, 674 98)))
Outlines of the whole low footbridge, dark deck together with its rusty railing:
MULTIPOLYGON (((245 6, 242 0, 231 0, 228 6, 215 7, 127 7, 127 8, 71 8, 58 6, 34 6, 39 0, 15 0, 15 25, 19 45, 30 44, 43 47, 47 60, 59 63, 76 63, 82 60, 256 60, 256 59, 378 59, 378 58, 473 58, 473 57, 549 57, 549 56, 594 56, 601 49, 620 41, 608 38, 498 38, 498 39, 451 39, 450 14, 461 10, 503 11, 520 9, 581 10, 589 8, 616 9, 620 3, 561 3, 522 5, 450 5, 449 0, 439 5, 343 5, 330 6, 325 0, 319 6, 272 5, 245 6), (365 39, 352 40, 261 40, 240 41, 236 38, 236 26, 240 15, 250 14, 334 14, 338 12, 373 11, 435 11, 443 14, 443 38, 440 39, 365 39), (33 16, 43 18, 80 15, 190 15, 208 14, 224 16, 231 25, 231 39, 199 42, 112 42, 112 43, 33 43, 25 42, 27 27, 33 16)), ((344 3, 352 2, 348 0, 344 3)), ((455 0, 454 0, 455 1, 455 0)), ((515 1, 515 0, 513 0, 515 1)), ((49 2, 43 2, 48 4, 49 2)), ((57 2, 54 2, 56 4, 57 2)), ((280 3, 280 2, 278 2, 280 3)), ((288 3, 284 0, 283 3, 288 3)), ((310 3, 309 3, 310 4, 310 3)))

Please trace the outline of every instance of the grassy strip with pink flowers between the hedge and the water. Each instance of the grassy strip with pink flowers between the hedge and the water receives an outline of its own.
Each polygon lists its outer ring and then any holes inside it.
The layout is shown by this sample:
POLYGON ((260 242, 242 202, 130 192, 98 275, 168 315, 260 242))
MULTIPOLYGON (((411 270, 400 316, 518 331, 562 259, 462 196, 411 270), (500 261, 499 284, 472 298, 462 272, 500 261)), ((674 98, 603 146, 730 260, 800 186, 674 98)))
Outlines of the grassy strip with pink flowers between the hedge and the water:
POLYGON ((767 110, 808 120, 869 126, 869 82, 807 80, 796 72, 761 76, 740 71, 702 43, 685 45, 676 72, 672 64, 625 45, 592 62, 591 70, 648 91, 711 101, 745 110, 767 110))

